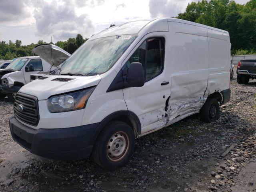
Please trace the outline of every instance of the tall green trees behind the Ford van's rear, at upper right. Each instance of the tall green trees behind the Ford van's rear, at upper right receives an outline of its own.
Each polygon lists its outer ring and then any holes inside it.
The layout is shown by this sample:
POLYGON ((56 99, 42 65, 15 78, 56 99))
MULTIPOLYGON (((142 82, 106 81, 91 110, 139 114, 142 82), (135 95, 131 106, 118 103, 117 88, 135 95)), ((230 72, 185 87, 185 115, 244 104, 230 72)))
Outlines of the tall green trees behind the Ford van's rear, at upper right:
POLYGON ((245 5, 234 0, 192 2, 176 18, 228 31, 232 55, 256 54, 256 0, 245 5))

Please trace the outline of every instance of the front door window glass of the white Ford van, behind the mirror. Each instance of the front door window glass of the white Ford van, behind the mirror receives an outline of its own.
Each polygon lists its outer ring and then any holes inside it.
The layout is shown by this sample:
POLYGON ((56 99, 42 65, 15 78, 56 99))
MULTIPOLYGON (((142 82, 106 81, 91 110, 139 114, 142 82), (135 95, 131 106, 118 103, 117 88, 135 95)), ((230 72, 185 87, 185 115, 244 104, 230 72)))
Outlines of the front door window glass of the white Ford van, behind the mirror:
POLYGON ((127 69, 132 62, 142 64, 145 81, 158 76, 164 67, 164 38, 145 40, 126 62, 127 69))

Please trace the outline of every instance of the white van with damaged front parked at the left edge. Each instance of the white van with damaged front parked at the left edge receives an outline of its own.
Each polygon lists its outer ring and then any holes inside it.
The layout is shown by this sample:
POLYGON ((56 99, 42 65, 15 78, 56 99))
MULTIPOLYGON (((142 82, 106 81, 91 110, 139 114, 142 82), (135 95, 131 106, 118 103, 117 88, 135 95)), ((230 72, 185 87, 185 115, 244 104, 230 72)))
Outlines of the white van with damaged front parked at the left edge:
POLYGON ((30 74, 40 71, 49 72, 50 64, 39 56, 20 57, 0 70, 0 98, 8 96, 14 101, 14 96, 22 86, 30 82, 30 74))

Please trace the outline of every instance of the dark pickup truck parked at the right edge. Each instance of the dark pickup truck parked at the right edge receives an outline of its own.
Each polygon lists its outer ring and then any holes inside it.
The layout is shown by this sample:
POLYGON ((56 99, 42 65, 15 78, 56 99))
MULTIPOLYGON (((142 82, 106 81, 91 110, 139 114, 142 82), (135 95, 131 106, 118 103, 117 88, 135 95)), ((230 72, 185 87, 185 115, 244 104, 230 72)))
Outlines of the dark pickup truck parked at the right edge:
POLYGON ((239 84, 248 84, 250 79, 256 79, 256 59, 239 61, 236 74, 239 84))

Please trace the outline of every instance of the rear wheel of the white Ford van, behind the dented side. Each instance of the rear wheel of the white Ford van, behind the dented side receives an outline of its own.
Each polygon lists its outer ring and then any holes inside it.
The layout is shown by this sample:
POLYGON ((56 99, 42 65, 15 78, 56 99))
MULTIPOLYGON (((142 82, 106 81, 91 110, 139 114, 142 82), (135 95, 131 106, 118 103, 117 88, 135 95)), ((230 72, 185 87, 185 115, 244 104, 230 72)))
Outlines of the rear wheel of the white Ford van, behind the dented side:
POLYGON ((210 123, 220 117, 220 105, 216 98, 208 98, 200 110, 200 119, 210 123))

